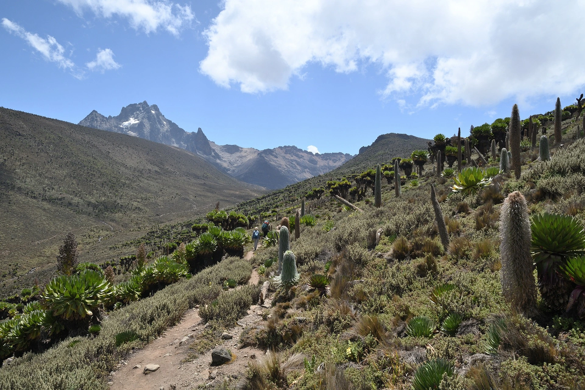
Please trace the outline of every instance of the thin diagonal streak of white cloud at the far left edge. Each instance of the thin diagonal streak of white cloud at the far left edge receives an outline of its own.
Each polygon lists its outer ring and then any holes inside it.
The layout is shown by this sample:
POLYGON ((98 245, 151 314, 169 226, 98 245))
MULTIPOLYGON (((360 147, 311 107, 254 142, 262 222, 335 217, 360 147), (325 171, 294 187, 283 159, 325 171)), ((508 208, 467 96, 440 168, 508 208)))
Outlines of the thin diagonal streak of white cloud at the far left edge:
MULTIPOLYGON (((42 38, 38 34, 27 32, 22 26, 6 18, 2 18, 2 26, 4 26, 8 32, 24 39, 33 47, 33 49, 37 50, 45 60, 56 63, 60 68, 75 71, 75 64, 63 55, 65 49, 56 39, 54 39, 54 37, 47 35, 46 39, 42 38)), ((82 77, 82 75, 77 72, 75 72, 75 74, 77 74, 75 77, 82 77)))

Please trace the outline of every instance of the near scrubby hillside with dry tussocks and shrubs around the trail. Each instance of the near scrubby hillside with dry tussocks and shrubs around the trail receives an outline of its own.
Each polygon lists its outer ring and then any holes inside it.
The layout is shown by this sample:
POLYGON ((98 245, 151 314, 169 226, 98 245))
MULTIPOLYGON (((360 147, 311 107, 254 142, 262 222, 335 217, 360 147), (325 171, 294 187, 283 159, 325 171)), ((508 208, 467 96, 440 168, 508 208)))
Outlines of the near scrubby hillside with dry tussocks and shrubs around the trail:
MULTIPOLYGON (((329 196, 313 201, 316 225, 302 226, 300 238, 290 242, 298 281, 281 287, 274 280, 276 247, 263 247, 253 258, 260 284, 270 282, 273 307, 239 341, 269 353, 250 362, 237 388, 584 388, 585 279, 579 272, 567 278, 563 267, 585 269, 585 257, 577 256, 585 253, 585 139, 578 139, 574 120, 563 127, 563 147, 551 141, 552 160, 539 161, 538 148, 524 141, 515 154, 521 157, 519 178, 498 173, 491 186, 476 191, 467 185, 467 192, 453 192, 454 180, 433 176, 427 165, 428 173, 405 184, 399 197, 383 184, 379 208, 362 201, 356 205, 363 211, 352 211, 329 196), (515 207, 512 198, 519 201, 515 207), (539 249, 525 218, 534 221, 543 212, 570 224, 533 227, 532 233, 549 229, 545 236, 555 237, 539 249), (533 270, 531 246, 535 261, 558 256, 555 278, 533 270), (567 246, 573 253, 566 253, 567 246), (522 261, 528 266, 518 266, 522 261), (579 294, 567 310, 573 289, 579 294), (526 296, 531 298, 518 299, 526 296)), ((490 165, 497 167, 496 161, 490 165)), ((290 204, 272 206, 282 215, 290 204)), ((106 389, 108 372, 132 347, 161 334, 195 303, 199 313, 215 313, 211 329, 228 329, 258 291, 221 292, 222 280, 235 277, 232 268, 239 268, 242 282, 250 272, 246 261, 224 261, 109 311, 99 335, 80 334, 13 360, 0 370, 2 388, 106 389), (116 345, 126 329, 136 339, 116 345)), ((194 343, 208 340, 205 333, 194 337, 194 343)), ((219 386, 236 388, 235 381, 219 386)))

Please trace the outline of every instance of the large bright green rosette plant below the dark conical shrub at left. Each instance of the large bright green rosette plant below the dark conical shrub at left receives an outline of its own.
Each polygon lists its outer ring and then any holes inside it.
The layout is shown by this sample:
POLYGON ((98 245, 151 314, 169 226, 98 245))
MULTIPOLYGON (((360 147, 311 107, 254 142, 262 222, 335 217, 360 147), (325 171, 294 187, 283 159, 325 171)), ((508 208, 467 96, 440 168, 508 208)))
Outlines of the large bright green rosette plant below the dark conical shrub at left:
POLYGON ((81 319, 112 294, 112 287, 104 275, 86 270, 78 275, 61 275, 52 279, 41 295, 49 311, 64 319, 81 319))

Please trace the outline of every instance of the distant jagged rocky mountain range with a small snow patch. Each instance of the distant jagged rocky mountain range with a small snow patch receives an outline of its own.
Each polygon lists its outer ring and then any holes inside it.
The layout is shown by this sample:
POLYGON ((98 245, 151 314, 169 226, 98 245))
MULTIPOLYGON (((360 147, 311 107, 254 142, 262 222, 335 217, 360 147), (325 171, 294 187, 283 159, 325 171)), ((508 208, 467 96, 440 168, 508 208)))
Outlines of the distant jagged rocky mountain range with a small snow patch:
POLYGON ((186 149, 232 177, 270 189, 324 174, 352 158, 344 153, 313 154, 295 146, 258 150, 218 145, 207 139, 201 127, 196 133, 186 132, 146 101, 122 108, 118 116, 106 117, 94 110, 79 125, 186 149))

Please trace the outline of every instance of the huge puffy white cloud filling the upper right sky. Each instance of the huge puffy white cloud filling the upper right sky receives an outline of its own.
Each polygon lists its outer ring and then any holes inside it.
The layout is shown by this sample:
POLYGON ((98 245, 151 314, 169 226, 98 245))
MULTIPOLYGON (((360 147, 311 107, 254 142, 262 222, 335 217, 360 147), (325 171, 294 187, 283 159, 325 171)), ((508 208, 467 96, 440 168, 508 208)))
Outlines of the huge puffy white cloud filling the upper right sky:
POLYGON ((585 51, 565 38, 584 12, 545 0, 225 0, 199 70, 250 93, 287 89, 316 63, 377 68, 381 96, 418 105, 556 96, 585 84, 585 51))

